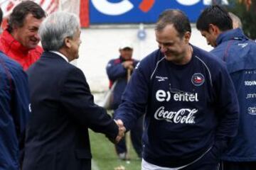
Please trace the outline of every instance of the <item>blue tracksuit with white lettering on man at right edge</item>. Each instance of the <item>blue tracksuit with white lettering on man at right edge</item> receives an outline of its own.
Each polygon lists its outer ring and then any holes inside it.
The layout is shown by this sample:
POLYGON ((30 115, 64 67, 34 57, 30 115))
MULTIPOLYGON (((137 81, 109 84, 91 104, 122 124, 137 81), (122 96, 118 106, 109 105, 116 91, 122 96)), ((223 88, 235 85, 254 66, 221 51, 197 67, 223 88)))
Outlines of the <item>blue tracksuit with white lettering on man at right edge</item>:
POLYGON ((240 106, 238 135, 223 154, 224 169, 256 169, 256 43, 240 28, 220 34, 213 55, 225 62, 240 106))

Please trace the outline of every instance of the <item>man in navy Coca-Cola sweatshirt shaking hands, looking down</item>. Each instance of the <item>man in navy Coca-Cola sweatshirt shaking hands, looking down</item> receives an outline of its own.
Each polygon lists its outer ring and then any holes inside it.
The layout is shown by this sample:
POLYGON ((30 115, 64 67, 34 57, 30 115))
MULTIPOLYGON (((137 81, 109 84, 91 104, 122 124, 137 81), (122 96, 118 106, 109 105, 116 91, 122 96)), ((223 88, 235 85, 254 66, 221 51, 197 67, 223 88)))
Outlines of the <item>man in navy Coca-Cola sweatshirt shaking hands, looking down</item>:
POLYGON ((159 50, 137 65, 115 119, 129 130, 145 113, 142 170, 217 169, 238 126, 230 76, 222 62, 189 43, 182 11, 161 13, 155 34, 159 50))

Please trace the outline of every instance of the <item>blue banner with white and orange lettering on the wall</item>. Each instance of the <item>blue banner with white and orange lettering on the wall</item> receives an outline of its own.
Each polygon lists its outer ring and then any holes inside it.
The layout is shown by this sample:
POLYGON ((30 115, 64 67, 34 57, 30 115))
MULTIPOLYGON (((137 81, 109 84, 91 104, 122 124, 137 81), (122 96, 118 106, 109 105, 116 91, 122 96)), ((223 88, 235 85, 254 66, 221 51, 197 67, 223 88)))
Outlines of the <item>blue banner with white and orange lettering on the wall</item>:
POLYGON ((166 8, 184 11, 191 22, 210 0, 90 0, 90 23, 155 23, 166 8))

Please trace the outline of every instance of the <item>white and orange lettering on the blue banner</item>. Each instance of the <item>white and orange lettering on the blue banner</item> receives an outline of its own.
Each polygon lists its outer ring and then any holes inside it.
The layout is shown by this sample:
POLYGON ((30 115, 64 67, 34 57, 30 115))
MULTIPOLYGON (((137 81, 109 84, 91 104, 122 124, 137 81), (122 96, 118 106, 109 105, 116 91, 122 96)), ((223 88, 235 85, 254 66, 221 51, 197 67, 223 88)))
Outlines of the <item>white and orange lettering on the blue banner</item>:
MULTIPOLYGON (((139 9, 144 13, 151 10, 154 6, 156 0, 142 0, 139 4, 139 9)), ((172 1, 172 0, 170 0, 172 1)), ((176 0, 178 4, 184 6, 192 6, 197 4, 201 0, 176 0)), ((210 5, 211 0, 203 0, 204 5, 210 5)), ((110 2, 108 0, 92 0, 92 4, 97 8, 97 11, 104 13, 109 16, 119 16, 123 13, 127 13, 134 8, 134 4, 132 4, 131 0, 122 0, 119 2, 110 2)))

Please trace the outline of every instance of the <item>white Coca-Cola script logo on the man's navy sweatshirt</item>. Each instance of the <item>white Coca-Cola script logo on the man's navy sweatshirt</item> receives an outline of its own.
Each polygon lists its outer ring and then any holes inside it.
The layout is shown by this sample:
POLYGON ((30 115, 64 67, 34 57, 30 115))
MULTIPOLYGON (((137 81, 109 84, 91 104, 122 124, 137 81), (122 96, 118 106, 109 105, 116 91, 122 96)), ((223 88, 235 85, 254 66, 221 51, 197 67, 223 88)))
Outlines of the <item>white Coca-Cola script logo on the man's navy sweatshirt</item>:
POLYGON ((185 123, 185 124, 194 124, 195 114, 198 112, 198 109, 193 108, 181 108, 178 111, 165 111, 164 106, 161 106, 154 113, 154 118, 156 120, 166 120, 170 123, 185 123))

